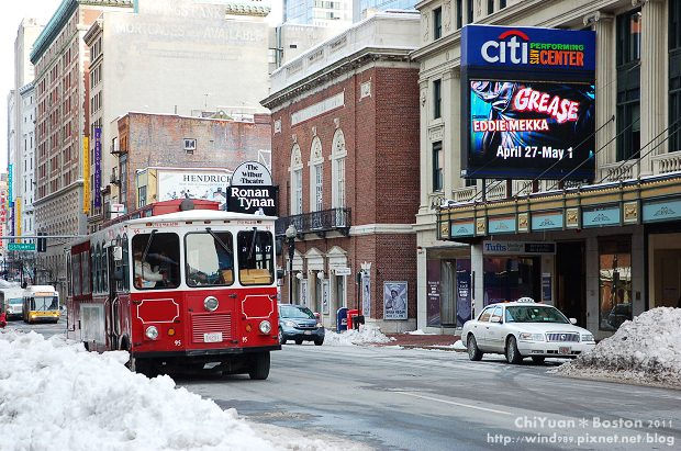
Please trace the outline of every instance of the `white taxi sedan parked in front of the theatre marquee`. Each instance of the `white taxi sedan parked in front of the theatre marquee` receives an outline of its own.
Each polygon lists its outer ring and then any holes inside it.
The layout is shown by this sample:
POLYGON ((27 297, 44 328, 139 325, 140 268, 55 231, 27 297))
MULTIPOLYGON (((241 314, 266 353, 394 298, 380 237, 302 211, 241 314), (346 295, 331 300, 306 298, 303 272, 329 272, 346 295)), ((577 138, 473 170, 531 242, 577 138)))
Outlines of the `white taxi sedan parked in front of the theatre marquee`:
POLYGON ((484 307, 476 319, 466 322, 461 340, 470 360, 500 353, 509 363, 526 357, 542 363, 547 357, 574 358, 595 347, 593 335, 576 323, 551 305, 522 297, 484 307))

